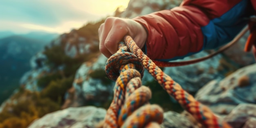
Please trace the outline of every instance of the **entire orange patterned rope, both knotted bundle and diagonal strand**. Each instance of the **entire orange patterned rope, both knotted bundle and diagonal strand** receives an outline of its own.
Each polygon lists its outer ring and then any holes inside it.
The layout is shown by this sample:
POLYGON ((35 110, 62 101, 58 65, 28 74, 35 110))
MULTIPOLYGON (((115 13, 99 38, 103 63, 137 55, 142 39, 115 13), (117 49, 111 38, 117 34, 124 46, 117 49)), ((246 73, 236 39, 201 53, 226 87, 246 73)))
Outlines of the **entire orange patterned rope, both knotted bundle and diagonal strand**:
MULTIPOLYGON (((162 70, 139 49, 130 36, 125 37, 125 44, 128 46, 128 49, 126 49, 124 43, 121 43, 119 51, 112 55, 106 63, 106 74, 110 79, 116 80, 116 84, 114 88, 114 99, 107 111, 105 124, 103 125, 104 128, 134 128, 135 124, 137 126, 135 128, 142 128, 146 126, 145 122, 147 119, 161 123, 163 110, 156 105, 144 105, 135 111, 139 106, 147 104, 151 95, 150 90, 146 91, 146 87, 142 86, 139 88, 139 86, 141 86, 140 77, 141 74, 143 74, 143 68, 139 66, 139 62, 148 70, 155 80, 158 81, 164 90, 177 100, 180 105, 203 126, 206 128, 231 128, 225 121, 220 121, 208 107, 202 105, 196 101, 192 95, 184 91, 170 76, 162 72, 162 70), (120 49, 120 47, 125 48, 120 49), (125 51, 130 51, 131 53, 125 51), (139 70, 139 72, 137 70, 139 70), (146 110, 146 108, 148 110, 146 110), (153 117, 150 117, 150 114, 153 117), (130 117, 128 117, 129 115, 130 117), (125 123, 122 125, 124 121, 125 123)), ((147 120, 147 122, 149 121, 147 120)), ((148 126, 152 125, 151 123, 148 126)))

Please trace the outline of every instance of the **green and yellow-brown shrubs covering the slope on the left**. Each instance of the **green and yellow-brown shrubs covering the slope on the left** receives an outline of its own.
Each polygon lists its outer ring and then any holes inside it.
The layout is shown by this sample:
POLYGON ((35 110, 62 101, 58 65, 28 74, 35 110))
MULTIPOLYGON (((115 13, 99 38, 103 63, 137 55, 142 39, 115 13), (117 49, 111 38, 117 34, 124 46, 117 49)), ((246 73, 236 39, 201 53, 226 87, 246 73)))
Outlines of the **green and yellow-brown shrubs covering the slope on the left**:
MULTIPOLYGON (((88 23, 78 29, 77 33, 80 37, 86 38, 88 43, 93 43, 90 41, 98 41, 98 28, 103 22, 104 20, 97 23, 88 23)), ((38 78, 37 84, 43 90, 41 92, 30 92, 20 88, 10 98, 11 103, 7 103, 3 111, 0 112, 0 128, 27 128, 34 119, 61 109, 65 93, 72 87, 76 70, 85 61, 89 61, 99 55, 99 45, 93 44, 90 49, 92 53, 78 54, 71 58, 65 54, 64 50, 67 40, 68 37, 61 40, 61 45, 45 47, 43 53, 47 56, 46 64, 50 67, 51 72, 45 73, 38 78)), ((74 42, 73 45, 78 44, 78 42, 74 42)), ((97 70, 96 72, 102 71, 97 70)), ((106 76, 94 74, 92 76, 98 77, 104 83, 110 81, 106 76)))

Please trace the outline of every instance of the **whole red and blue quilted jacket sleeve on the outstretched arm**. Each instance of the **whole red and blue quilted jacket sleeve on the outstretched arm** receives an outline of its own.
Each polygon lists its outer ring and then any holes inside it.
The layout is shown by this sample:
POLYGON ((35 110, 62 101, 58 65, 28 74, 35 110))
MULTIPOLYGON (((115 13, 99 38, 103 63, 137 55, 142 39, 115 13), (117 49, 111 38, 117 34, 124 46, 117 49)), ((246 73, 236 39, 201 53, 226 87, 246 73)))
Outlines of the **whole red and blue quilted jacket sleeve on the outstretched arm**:
POLYGON ((249 22, 256 0, 183 0, 179 7, 133 18, 148 34, 145 51, 171 61, 231 41, 249 22))

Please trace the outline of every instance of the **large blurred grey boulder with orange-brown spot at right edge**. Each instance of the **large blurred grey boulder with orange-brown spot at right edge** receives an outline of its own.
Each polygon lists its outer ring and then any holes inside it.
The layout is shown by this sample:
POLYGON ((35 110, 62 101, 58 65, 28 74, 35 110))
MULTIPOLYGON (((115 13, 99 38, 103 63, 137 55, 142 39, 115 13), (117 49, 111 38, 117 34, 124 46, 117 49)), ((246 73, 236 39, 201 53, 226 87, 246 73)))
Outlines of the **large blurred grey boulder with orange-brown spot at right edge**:
POLYGON ((256 103, 256 64, 241 68, 221 81, 211 81, 195 99, 220 115, 231 112, 240 103, 256 103))

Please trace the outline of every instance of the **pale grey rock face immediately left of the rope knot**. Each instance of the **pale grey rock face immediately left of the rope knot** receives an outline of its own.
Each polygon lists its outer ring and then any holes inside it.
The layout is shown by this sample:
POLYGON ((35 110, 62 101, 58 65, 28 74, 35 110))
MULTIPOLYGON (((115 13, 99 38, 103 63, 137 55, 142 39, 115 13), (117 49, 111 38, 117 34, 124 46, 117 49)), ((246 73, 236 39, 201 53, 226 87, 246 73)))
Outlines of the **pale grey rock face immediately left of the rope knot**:
POLYGON ((84 106, 87 104, 86 101, 93 101, 97 106, 103 101, 109 100, 115 83, 110 80, 110 82, 106 82, 104 81, 106 79, 103 79, 107 77, 105 74, 106 61, 107 58, 101 54, 99 58, 94 58, 80 66, 73 83, 75 94, 70 106, 84 106))

